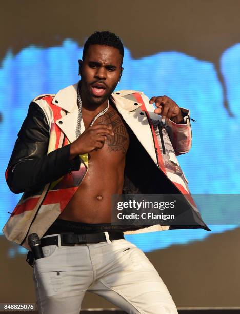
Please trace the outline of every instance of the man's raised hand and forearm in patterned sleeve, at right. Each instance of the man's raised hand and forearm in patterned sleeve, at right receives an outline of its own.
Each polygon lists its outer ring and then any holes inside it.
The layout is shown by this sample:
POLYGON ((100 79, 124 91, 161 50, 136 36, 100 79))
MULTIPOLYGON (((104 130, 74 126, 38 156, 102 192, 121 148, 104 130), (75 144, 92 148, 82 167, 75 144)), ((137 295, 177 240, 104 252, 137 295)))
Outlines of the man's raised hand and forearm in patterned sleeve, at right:
POLYGON ((176 155, 187 153, 192 146, 190 111, 167 96, 152 97, 149 103, 155 103, 154 113, 162 115, 162 120, 169 126, 168 135, 176 155))

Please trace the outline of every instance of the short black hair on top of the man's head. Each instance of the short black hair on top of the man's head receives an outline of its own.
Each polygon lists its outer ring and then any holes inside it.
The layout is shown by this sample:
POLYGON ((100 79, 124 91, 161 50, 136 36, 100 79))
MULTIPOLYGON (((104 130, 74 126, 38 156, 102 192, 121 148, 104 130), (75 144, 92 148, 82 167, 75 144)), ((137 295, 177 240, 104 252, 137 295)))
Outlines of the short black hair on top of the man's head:
POLYGON ((123 43, 121 39, 114 33, 111 33, 109 31, 102 31, 102 32, 96 31, 90 37, 88 37, 86 43, 84 44, 83 60, 86 56, 86 53, 90 45, 106 45, 106 46, 110 46, 110 47, 114 47, 118 49, 120 54, 122 55, 122 63, 123 63, 123 57, 124 57, 123 43))

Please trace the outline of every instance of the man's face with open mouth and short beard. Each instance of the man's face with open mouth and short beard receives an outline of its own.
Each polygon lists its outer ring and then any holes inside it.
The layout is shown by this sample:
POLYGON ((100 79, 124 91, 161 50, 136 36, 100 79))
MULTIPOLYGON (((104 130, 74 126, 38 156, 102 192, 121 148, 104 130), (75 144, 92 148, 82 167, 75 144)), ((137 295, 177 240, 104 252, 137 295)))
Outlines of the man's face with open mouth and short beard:
POLYGON ((117 86, 123 68, 118 49, 90 45, 84 61, 80 61, 81 94, 94 104, 104 103, 117 86))

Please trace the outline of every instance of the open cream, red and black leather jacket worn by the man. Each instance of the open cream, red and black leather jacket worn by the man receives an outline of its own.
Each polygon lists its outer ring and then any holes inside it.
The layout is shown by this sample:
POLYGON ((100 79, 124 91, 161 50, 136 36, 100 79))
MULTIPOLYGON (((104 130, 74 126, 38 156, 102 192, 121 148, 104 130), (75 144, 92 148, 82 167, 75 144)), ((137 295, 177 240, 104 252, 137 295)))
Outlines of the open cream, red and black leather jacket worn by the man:
MULTIPOLYGON (((76 139, 77 84, 56 95, 40 95, 32 100, 6 169, 9 189, 24 194, 3 232, 7 239, 29 250, 28 234, 37 233, 40 238, 44 235, 88 171, 88 154, 69 160, 70 143, 76 139)), ((188 181, 176 159, 191 147, 189 110, 181 108, 182 124, 170 120, 163 123, 142 92, 117 91, 110 100, 122 115, 130 137, 123 193, 182 193, 197 221, 195 226, 128 225, 124 233, 197 227, 210 230, 191 199, 188 181)))

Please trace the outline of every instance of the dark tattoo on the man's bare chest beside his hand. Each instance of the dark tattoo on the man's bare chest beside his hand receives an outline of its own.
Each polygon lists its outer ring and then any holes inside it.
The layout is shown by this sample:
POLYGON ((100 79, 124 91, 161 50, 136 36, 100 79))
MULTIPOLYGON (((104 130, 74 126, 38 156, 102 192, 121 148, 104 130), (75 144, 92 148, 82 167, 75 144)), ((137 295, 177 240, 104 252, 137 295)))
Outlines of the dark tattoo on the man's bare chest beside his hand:
POLYGON ((107 136, 109 151, 122 150, 123 153, 126 153, 129 145, 129 136, 121 117, 119 117, 119 114, 115 110, 112 110, 105 113, 98 119, 98 123, 110 125, 115 134, 114 136, 107 136))

